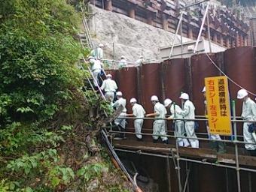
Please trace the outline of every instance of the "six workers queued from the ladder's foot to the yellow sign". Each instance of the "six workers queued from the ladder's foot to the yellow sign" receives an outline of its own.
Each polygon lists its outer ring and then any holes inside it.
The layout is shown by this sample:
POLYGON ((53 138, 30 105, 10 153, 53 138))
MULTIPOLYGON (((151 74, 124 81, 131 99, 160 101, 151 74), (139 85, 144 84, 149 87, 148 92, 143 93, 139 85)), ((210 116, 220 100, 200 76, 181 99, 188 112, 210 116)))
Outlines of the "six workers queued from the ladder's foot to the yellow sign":
MULTIPOLYGON (((154 117, 153 124, 153 142, 157 142, 159 137, 162 139, 163 143, 168 143, 168 137, 166 136, 166 119, 175 121, 175 135, 178 138, 178 145, 180 146, 191 146, 193 148, 199 148, 199 140, 195 133, 195 107, 194 104, 189 100, 189 95, 187 93, 182 93, 179 97, 181 102, 184 103, 183 109, 176 105, 169 98, 164 101, 164 105, 160 103, 156 95, 151 96, 151 102, 154 105, 154 113, 146 114, 142 105, 137 103, 136 98, 130 99, 130 104, 133 108, 133 113, 126 113, 126 99, 123 98, 122 92, 117 91, 117 83, 112 80, 111 74, 106 75, 106 80, 103 81, 100 87, 102 91, 105 92, 105 99, 111 102, 111 106, 118 108, 120 105, 123 106, 123 110, 120 115, 115 119, 114 124, 117 125, 120 131, 125 131, 126 128, 126 118, 124 117, 135 117, 134 128, 136 137, 139 141, 142 141, 142 125, 145 117, 154 117), (116 92, 116 94, 115 94, 116 92), (117 100, 114 101, 114 94, 117 100), (170 110, 172 114, 166 118, 166 108, 170 110), (182 119, 185 120, 182 120, 182 119), (191 120, 190 120, 191 119, 191 120), (184 134, 187 134, 189 139, 184 138, 184 134), (182 138, 183 137, 183 138, 182 138)), ((123 134, 125 138, 125 134, 123 134)))

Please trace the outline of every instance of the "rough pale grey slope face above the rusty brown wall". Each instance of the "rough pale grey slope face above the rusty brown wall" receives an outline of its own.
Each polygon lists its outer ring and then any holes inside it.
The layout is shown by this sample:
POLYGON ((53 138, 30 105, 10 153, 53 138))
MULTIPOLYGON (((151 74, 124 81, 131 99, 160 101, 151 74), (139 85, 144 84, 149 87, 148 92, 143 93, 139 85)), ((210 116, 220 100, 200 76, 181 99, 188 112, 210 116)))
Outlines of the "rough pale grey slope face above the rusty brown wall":
MULTIPOLYGON (((104 58, 120 60, 125 55, 128 62, 135 62, 143 55, 154 62, 158 60, 159 47, 172 45, 175 34, 119 13, 94 6, 92 9, 96 14, 90 20, 90 31, 94 46, 105 45, 104 58)), ((186 42, 187 38, 182 40, 186 42)), ((175 43, 180 43, 180 36, 175 43)))

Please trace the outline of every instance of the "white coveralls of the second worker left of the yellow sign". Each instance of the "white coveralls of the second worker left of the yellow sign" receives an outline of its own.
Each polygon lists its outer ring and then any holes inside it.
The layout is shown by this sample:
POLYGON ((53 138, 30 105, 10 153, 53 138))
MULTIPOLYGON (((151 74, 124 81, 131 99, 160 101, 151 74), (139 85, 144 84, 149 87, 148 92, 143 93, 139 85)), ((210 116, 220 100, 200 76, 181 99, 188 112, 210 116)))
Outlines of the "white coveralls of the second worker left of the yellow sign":
MULTIPOLYGON (((175 105, 175 110, 177 112, 181 112, 181 107, 179 107, 178 105, 175 105)), ((174 105, 173 104, 170 107, 170 112, 172 114, 171 118, 183 118, 183 116, 178 113, 174 114, 174 105)), ((186 133, 185 129, 184 129, 184 121, 175 120, 175 136, 184 136, 184 133, 186 133)), ((179 146, 187 147, 190 145, 186 138, 184 138, 184 139, 177 138, 177 139, 178 139, 179 146)))

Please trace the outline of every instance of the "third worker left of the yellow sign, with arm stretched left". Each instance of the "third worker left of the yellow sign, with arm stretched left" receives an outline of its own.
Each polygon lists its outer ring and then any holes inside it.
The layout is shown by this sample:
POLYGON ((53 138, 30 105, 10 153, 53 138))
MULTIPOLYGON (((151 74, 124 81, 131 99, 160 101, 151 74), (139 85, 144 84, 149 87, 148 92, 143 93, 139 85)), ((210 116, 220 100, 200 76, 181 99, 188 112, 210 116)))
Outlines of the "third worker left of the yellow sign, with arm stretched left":
MULTIPOLYGON (((152 104, 154 105, 154 113, 149 113, 146 117, 154 116, 155 118, 166 118, 166 107, 163 104, 160 104, 156 95, 151 96, 152 104)), ((153 142, 157 142, 159 136, 163 140, 163 143, 168 144, 168 138, 166 136, 166 120, 165 119, 156 119, 153 124, 153 142)))

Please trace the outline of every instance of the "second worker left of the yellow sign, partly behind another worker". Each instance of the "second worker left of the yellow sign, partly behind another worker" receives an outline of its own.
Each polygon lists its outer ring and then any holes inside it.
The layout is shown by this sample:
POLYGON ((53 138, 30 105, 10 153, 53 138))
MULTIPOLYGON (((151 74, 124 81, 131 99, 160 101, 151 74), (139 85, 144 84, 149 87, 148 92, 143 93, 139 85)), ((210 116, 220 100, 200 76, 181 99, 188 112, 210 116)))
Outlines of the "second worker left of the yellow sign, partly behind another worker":
MULTIPOLYGON (((179 107, 176 104, 173 104, 172 100, 167 98, 165 101, 163 101, 164 107, 169 108, 171 115, 167 118, 168 120, 174 119, 174 118, 183 118, 182 115, 179 115, 178 113, 175 113, 174 110, 181 112, 181 107, 179 107)), ((184 121, 181 119, 177 119, 174 121, 175 124, 175 136, 184 136, 185 128, 184 128, 184 121)), ((190 145, 190 143, 187 141, 186 138, 182 139, 177 137, 178 145, 181 147, 187 147, 190 145)))

